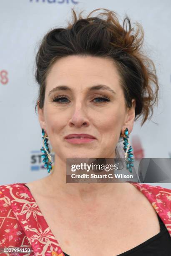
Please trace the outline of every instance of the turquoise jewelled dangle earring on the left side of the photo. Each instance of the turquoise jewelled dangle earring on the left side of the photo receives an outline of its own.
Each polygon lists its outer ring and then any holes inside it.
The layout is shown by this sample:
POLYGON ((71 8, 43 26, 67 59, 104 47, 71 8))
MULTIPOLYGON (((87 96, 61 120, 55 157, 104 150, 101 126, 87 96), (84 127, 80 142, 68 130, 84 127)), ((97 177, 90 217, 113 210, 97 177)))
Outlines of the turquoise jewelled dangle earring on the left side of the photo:
POLYGON ((43 139, 43 147, 40 148, 40 150, 42 151, 42 153, 44 153, 41 157, 43 158, 43 163, 44 167, 48 169, 48 173, 50 173, 51 169, 53 169, 52 167, 52 159, 50 156, 50 150, 48 147, 48 136, 45 134, 44 129, 42 129, 42 139, 43 139))

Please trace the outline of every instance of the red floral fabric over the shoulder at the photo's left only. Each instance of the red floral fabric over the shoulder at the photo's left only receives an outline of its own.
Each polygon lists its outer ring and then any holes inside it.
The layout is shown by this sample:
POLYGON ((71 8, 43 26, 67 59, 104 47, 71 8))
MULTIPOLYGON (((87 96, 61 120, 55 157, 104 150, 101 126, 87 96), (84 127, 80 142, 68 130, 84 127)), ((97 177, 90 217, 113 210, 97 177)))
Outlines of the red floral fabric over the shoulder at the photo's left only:
POLYGON ((23 184, 0 186, 0 248, 32 247, 33 252, 1 255, 64 256, 33 196, 23 184))

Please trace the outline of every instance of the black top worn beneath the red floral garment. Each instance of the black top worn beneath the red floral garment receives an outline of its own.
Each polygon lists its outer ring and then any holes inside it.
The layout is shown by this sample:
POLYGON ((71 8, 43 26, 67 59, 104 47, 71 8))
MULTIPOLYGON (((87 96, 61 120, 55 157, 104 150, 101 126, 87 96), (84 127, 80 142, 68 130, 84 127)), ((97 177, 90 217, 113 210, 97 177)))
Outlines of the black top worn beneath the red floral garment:
MULTIPOLYGON (((25 187, 27 186, 25 185, 25 187)), ((157 217, 160 223, 160 232, 157 235, 116 256, 171 256, 171 236, 160 216, 157 215, 157 217)), ((64 255, 70 256, 67 253, 64 253, 64 255)))

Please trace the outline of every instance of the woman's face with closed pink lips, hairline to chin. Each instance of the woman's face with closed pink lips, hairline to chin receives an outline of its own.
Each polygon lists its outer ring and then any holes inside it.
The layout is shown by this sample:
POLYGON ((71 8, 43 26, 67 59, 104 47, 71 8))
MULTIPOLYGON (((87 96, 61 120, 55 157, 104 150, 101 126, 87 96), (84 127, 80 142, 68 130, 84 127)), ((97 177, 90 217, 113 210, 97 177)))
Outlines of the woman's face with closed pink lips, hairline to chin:
POLYGON ((113 158, 120 133, 132 131, 135 101, 126 108, 120 77, 111 59, 67 56, 53 64, 46 79, 41 128, 55 154, 62 158, 113 158), (59 88, 58 88, 59 87, 59 88), (77 143, 65 136, 89 134, 77 143))

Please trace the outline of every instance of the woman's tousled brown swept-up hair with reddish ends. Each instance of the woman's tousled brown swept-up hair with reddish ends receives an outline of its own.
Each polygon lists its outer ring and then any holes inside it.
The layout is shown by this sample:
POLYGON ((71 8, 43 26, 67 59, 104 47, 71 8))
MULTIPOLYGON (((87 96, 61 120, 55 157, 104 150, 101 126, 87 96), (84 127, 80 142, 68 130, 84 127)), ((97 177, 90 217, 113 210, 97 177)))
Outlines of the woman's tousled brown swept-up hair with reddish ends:
MULTIPOLYGON (((45 81, 53 63, 69 55, 100 56, 112 58, 121 77, 127 107, 136 100, 135 120, 143 115, 142 123, 148 118, 153 105, 158 102, 158 78, 154 63, 143 55, 143 28, 136 23, 131 27, 126 15, 123 26, 120 25, 114 11, 98 8, 86 18, 79 18, 72 8, 73 20, 66 28, 53 28, 43 37, 36 54, 35 78, 39 84, 39 104, 43 108, 45 99, 45 81), (96 10, 104 10, 96 17, 90 17, 96 10), (103 16, 103 17, 99 17, 103 16), (128 29, 127 29, 128 25, 128 29)), ((151 117, 150 116, 150 117, 151 117)))

